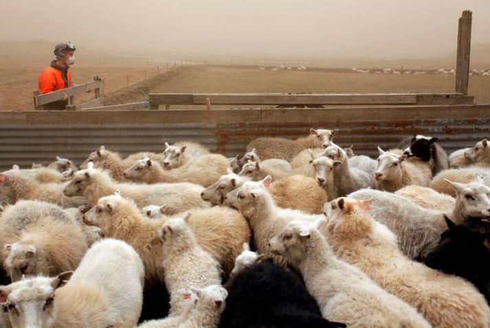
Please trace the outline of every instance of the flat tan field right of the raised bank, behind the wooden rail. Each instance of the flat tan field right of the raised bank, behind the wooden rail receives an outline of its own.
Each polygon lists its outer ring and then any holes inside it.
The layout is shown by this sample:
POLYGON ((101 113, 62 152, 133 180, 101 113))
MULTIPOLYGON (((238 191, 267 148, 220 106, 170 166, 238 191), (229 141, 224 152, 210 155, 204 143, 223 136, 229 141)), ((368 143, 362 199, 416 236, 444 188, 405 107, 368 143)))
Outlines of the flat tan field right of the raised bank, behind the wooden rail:
MULTIPOLYGON (((183 71, 161 93, 431 93, 454 92, 454 75, 378 75, 325 71, 261 71, 259 69, 198 67, 183 71)), ((490 77, 471 76, 469 94, 490 103, 490 77)))

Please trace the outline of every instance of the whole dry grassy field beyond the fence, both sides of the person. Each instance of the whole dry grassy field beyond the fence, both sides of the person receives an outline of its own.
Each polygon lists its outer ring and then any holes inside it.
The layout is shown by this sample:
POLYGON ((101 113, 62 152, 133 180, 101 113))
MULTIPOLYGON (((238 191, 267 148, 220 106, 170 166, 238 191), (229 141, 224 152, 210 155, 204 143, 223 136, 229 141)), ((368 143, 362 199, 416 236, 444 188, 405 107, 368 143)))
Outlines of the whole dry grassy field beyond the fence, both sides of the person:
MULTIPOLYGON (((144 63, 142 63, 144 64, 144 63)), ((0 110, 32 109, 32 90, 47 63, 0 65, 0 110)), ((146 76, 162 73, 155 65, 113 62, 111 65, 93 60, 73 67, 75 83, 90 81, 93 75, 105 80, 105 92, 117 91, 146 76)), ((454 92, 454 75, 377 75, 333 73, 328 71, 269 71, 241 67, 193 67, 175 78, 155 85, 153 93, 432 93, 454 92)), ((490 103, 490 78, 470 77, 469 94, 477 103, 490 103)), ((93 95, 82 95, 77 102, 93 95)), ((143 101, 144 95, 124 99, 143 101)))

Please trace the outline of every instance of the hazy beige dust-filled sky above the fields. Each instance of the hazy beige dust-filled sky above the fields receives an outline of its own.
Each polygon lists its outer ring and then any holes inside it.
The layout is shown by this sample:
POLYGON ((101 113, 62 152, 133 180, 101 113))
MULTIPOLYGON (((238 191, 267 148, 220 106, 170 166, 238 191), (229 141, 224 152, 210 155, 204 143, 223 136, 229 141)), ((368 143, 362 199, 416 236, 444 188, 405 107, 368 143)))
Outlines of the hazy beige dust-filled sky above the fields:
POLYGON ((489 0, 0 0, 0 40, 87 49, 332 58, 430 58, 456 48, 473 11, 490 43, 489 0))

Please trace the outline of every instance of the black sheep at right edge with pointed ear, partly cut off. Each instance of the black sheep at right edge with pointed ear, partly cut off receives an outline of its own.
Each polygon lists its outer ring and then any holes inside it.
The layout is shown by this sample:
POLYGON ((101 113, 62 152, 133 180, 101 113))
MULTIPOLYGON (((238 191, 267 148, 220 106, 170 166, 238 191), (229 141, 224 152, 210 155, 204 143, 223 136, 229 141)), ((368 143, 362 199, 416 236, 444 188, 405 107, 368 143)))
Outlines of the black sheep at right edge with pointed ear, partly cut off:
POLYGON ((449 230, 442 233, 441 242, 427 255, 425 264, 471 281, 490 304, 490 235, 445 220, 449 230))

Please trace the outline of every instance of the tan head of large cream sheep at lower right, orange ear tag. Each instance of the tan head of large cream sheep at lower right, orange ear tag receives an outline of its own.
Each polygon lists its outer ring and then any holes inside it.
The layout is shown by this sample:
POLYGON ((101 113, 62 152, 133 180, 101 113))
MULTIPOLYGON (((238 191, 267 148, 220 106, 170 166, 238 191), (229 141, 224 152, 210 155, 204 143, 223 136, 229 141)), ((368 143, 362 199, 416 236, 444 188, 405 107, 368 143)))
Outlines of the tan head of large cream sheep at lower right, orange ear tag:
POLYGON ((341 238, 364 237, 371 231, 369 204, 366 200, 341 197, 324 205, 328 218, 327 229, 332 235, 342 234, 341 238))

